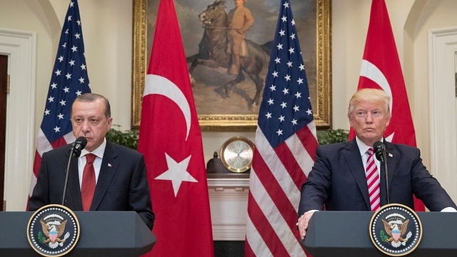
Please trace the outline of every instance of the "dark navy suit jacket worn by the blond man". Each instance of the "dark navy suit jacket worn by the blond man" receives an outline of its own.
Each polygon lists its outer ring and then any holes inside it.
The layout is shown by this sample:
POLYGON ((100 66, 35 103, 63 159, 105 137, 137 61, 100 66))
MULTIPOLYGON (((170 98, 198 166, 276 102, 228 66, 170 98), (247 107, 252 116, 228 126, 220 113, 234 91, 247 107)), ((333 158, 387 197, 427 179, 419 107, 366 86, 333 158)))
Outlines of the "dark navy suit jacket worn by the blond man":
MULTIPOLYGON (((390 203, 414 208, 413 194, 430 211, 457 208, 448 193, 422 164, 418 148, 384 142, 390 203)), ((381 163, 381 206, 387 203, 386 178, 381 163)), ((356 139, 319 146, 308 180, 301 186, 298 216, 305 211, 370 211, 368 186, 356 139)))

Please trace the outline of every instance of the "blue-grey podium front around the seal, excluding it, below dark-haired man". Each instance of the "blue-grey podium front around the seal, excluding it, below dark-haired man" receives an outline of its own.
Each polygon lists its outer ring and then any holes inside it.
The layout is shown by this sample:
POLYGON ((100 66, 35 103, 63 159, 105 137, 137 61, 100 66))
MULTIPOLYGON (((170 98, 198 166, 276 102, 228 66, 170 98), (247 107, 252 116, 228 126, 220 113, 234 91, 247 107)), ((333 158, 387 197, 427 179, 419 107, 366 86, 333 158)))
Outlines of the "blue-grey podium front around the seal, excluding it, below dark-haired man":
MULTIPOLYGON (((40 256, 27 239, 27 223, 34 212, 0 212, 0 256, 40 256)), ((140 256, 156 242, 134 211, 75 211, 81 234, 66 256, 140 256)))

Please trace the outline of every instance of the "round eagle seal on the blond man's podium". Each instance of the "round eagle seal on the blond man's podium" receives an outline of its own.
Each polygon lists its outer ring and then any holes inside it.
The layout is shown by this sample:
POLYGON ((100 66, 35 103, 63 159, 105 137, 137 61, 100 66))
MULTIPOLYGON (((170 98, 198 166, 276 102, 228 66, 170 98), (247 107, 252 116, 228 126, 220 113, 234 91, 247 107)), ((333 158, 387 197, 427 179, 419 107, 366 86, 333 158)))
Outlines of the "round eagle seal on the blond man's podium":
POLYGON ((416 249, 422 238, 421 220, 401 204, 382 206, 370 221, 374 246, 388 256, 404 256, 416 249))

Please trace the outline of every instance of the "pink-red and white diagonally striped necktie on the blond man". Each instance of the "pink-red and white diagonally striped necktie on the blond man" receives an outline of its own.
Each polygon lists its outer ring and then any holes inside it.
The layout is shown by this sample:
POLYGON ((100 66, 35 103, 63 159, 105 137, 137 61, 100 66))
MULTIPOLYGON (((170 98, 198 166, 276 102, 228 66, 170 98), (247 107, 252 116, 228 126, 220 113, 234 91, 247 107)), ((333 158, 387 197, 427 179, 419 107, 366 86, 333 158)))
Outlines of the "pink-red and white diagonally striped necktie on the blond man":
POLYGON ((378 167, 374 162, 373 148, 369 148, 368 159, 366 160, 366 184, 368 185, 368 196, 370 196, 371 211, 377 211, 381 207, 381 197, 379 191, 379 174, 378 167))

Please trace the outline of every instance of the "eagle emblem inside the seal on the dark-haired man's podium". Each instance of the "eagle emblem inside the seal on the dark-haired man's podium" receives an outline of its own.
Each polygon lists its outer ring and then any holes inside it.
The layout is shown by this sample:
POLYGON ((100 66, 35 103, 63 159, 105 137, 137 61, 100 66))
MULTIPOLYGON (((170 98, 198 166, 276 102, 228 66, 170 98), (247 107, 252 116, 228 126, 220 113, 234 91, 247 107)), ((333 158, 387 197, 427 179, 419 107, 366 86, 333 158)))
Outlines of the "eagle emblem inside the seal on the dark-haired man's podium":
POLYGON ((69 238, 70 233, 67 232, 64 238, 62 239, 61 236, 65 232, 66 221, 59 221, 58 219, 51 219, 50 221, 43 221, 41 220, 41 228, 44 233, 44 238, 41 243, 48 243, 50 248, 57 248, 57 246, 63 246, 66 238, 69 238))

